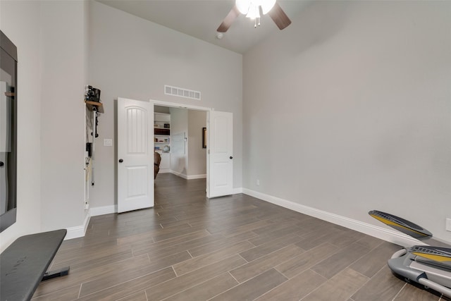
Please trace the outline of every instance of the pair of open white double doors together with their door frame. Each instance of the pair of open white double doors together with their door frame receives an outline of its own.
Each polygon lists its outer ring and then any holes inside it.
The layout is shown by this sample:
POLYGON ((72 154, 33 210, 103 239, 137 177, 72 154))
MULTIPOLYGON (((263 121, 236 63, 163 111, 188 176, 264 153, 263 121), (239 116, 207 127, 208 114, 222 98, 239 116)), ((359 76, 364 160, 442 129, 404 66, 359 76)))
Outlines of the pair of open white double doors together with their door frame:
POLYGON ((154 105, 206 112, 206 197, 233 194, 232 113, 118 98, 118 213, 154 206, 154 168, 149 164, 154 162, 154 105))

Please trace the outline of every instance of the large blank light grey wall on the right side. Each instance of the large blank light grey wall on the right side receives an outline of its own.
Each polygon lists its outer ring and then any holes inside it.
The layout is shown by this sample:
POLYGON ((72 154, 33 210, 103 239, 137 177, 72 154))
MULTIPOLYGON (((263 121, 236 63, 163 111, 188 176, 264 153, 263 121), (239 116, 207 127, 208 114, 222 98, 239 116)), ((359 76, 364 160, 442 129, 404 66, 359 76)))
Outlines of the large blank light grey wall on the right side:
POLYGON ((446 1, 316 1, 245 54, 243 187, 451 242, 450 16, 446 1))

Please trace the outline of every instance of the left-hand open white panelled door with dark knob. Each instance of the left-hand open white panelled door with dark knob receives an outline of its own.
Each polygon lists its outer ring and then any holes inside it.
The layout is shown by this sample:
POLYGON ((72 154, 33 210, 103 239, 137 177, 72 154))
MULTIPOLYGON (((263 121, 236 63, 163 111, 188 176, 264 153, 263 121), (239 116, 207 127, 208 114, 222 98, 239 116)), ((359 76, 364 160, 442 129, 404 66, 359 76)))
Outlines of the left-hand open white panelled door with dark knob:
POLYGON ((154 207, 154 104, 118 98, 118 213, 154 207))

